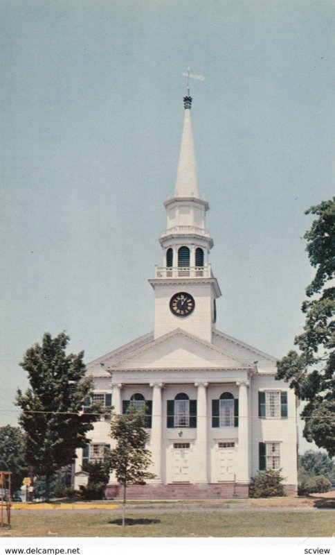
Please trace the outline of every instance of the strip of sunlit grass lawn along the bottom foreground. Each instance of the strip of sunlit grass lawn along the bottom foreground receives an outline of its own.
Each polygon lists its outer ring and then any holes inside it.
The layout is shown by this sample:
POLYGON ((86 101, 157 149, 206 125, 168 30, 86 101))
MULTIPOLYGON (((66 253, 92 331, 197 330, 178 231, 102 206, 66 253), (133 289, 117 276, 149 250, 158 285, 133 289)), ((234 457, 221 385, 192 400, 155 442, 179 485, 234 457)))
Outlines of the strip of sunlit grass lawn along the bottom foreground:
POLYGON ((170 513, 134 515, 120 526, 120 515, 103 513, 12 513, 12 529, 0 529, 0 538, 34 536, 100 537, 251 537, 251 536, 333 536, 334 511, 238 513, 170 513))

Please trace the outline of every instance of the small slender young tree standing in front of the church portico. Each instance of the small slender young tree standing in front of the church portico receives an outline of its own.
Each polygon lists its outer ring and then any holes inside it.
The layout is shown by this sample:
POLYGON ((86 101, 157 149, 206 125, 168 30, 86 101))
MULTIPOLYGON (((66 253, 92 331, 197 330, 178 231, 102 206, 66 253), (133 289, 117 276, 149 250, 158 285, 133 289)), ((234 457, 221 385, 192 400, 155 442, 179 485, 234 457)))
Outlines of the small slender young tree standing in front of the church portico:
POLYGON ((111 419, 111 438, 116 440, 116 447, 111 450, 110 468, 115 470, 116 479, 123 486, 124 526, 127 486, 145 484, 146 479, 155 477, 147 471, 152 461, 150 451, 145 449, 149 438, 145 432, 145 411, 130 405, 126 414, 114 414, 111 419))

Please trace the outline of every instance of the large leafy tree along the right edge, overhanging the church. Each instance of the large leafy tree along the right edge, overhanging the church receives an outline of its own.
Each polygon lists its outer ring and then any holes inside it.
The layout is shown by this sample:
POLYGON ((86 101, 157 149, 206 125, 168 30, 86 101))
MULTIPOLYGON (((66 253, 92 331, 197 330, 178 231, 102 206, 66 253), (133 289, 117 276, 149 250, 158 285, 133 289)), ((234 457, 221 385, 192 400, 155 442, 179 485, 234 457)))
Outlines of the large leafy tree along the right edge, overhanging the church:
POLYGON ((335 197, 306 214, 316 214, 307 239, 309 261, 316 268, 314 280, 302 303, 304 332, 296 336, 299 352, 291 350, 278 362, 278 379, 290 380, 302 410, 304 436, 335 455, 335 197))

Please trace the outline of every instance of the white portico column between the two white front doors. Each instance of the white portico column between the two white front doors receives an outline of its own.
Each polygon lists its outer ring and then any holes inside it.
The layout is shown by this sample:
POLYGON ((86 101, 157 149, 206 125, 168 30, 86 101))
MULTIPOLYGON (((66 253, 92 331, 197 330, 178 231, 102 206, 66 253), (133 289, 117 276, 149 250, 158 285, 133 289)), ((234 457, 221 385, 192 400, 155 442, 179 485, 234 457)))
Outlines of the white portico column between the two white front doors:
POLYGON ((196 443, 196 481, 207 482, 207 461, 208 461, 208 445, 207 445, 207 382, 199 382, 194 384, 198 388, 197 398, 197 443, 196 443))

